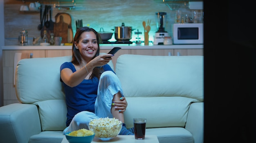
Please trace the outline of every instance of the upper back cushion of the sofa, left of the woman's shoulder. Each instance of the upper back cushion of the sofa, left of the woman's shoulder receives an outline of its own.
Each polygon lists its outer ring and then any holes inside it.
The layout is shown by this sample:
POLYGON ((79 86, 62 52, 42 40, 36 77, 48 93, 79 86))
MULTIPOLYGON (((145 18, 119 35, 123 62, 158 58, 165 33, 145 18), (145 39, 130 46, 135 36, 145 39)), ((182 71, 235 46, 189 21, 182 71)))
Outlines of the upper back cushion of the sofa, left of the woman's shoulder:
POLYGON ((16 95, 21 103, 65 99, 60 82, 60 67, 71 56, 25 58, 16 67, 16 95))

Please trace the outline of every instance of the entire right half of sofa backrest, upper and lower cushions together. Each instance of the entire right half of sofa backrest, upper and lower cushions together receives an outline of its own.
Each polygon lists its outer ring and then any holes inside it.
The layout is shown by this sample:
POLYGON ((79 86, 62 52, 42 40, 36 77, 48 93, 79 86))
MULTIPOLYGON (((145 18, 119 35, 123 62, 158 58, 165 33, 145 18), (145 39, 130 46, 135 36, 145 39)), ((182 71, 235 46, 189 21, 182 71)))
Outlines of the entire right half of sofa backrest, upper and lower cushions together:
POLYGON ((190 104, 203 102, 203 56, 124 54, 115 70, 132 118, 147 119, 146 128, 185 127, 190 104))

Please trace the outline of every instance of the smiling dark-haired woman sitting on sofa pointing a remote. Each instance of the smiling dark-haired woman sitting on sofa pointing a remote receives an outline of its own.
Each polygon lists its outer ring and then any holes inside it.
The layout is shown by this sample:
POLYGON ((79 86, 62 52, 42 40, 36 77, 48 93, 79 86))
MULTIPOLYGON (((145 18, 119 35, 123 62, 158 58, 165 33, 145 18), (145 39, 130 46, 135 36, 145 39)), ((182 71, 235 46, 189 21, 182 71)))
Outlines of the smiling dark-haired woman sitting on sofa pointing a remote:
POLYGON ((121 84, 107 63, 114 55, 99 55, 100 36, 93 28, 77 30, 72 45, 72 61, 61 65, 67 104, 67 128, 63 133, 88 129, 91 119, 115 117, 122 121, 119 135, 133 135, 126 129, 124 111, 127 107, 121 84))

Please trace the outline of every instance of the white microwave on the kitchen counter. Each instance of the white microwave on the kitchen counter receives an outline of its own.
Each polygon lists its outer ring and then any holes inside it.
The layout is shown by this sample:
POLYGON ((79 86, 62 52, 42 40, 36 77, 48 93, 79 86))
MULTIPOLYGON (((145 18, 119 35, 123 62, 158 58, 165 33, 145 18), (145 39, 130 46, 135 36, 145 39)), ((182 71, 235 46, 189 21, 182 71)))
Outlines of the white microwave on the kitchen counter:
POLYGON ((203 23, 173 24, 173 44, 203 44, 203 23))

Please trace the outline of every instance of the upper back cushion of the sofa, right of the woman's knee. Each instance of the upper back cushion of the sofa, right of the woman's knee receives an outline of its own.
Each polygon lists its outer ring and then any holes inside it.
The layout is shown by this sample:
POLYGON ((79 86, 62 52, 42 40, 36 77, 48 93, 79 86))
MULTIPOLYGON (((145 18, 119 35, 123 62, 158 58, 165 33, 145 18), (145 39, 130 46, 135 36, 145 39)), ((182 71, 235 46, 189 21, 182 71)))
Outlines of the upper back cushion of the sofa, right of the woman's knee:
POLYGON ((204 100, 203 56, 123 54, 117 59, 115 72, 126 97, 182 96, 204 100))

